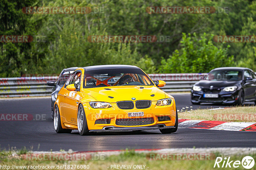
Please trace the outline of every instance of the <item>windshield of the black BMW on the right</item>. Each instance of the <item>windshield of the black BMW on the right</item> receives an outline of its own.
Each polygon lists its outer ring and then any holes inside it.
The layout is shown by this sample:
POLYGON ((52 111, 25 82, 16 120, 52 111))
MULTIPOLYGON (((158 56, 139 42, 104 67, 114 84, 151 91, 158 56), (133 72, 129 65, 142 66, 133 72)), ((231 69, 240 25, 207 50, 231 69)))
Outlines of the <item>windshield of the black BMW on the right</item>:
POLYGON ((239 81, 242 80, 242 72, 235 70, 214 70, 208 74, 205 80, 210 81, 239 81))

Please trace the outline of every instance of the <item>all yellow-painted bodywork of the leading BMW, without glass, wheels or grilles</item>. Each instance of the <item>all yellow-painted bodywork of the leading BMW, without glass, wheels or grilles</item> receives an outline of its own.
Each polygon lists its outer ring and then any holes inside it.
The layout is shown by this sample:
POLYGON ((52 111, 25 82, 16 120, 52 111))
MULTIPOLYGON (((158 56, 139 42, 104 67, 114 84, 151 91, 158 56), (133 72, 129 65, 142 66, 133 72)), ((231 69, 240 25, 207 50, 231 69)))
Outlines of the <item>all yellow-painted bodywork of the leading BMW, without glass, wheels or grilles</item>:
MULTIPOLYGON (((80 91, 69 91, 63 86, 57 97, 54 105, 57 105, 60 110, 60 119, 62 128, 76 129, 77 130, 77 112, 80 104, 84 107, 85 117, 89 130, 101 130, 105 126, 115 127, 143 127, 152 126, 156 124, 165 124, 166 126, 174 126, 176 119, 176 105, 174 98, 160 90, 156 85, 154 86, 109 86, 109 87, 97 87, 97 88, 83 88, 84 81, 84 69, 81 70, 82 78, 80 91), (111 90, 106 90, 106 88, 111 90), (154 94, 154 96, 150 96, 154 94), (109 98, 108 96, 114 97, 109 98), (136 98, 134 101, 131 98, 136 98), (164 98, 172 98, 172 103, 166 106, 157 106, 156 101, 164 98), (137 109, 135 102, 137 100, 150 100, 151 106, 147 109, 137 109), (108 102, 112 105, 110 108, 93 109, 89 102, 108 102), (131 110, 119 109, 116 102, 119 101, 132 101, 134 108, 131 110), (129 112, 144 112, 143 117, 153 117, 154 123, 139 126, 120 126, 116 125, 116 119, 122 118, 140 118, 140 117, 128 117, 129 112), (159 122, 157 116, 169 116, 171 120, 159 122), (97 119, 110 118, 110 124, 95 124, 97 119)), ((149 78, 150 79, 150 78, 149 78)), ((150 79, 151 80, 151 79, 150 79)), ((152 81, 152 80, 151 80, 152 81)))

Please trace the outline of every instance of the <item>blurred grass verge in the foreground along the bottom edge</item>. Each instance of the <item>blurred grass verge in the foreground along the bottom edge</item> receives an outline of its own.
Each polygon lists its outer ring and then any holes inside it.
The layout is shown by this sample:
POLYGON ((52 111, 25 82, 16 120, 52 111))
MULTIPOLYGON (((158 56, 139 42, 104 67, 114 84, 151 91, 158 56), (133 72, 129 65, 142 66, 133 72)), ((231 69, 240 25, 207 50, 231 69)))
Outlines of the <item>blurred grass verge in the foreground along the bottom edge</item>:
MULTIPOLYGON (((196 169, 196 170, 210 170, 210 169, 244 169, 242 165, 238 168, 214 168, 215 159, 212 160, 149 160, 147 153, 136 153, 134 151, 126 151, 119 155, 112 155, 105 157, 104 160, 86 160, 86 161, 50 161, 50 160, 24 160, 20 156, 11 156, 10 151, 0 152, 0 165, 11 166, 63 166, 63 165, 89 165, 90 170, 110 170, 111 165, 145 165, 145 170, 186 170, 186 169, 196 169)), ((217 153, 215 153, 217 155, 217 153)), ((256 154, 252 155, 233 155, 230 156, 230 160, 240 160, 244 156, 252 156, 256 160, 256 154)), ((233 162, 234 162, 233 161, 233 162)), ((232 164, 231 164, 232 166, 232 164)), ((142 166, 143 167, 143 166, 142 166)), ((255 169, 256 165, 252 168, 255 169)), ((22 168, 20 168, 22 169, 22 168)), ((23 168, 24 169, 24 168, 23 168)), ((36 169, 36 168, 35 168, 36 169)), ((46 169, 46 168, 37 168, 46 169)), ((56 168, 55 168, 56 169, 56 168)), ((73 169, 81 169, 74 168, 73 169)), ((85 168, 82 168, 85 169, 85 168)), ((112 168, 113 169, 113 168, 112 168)))

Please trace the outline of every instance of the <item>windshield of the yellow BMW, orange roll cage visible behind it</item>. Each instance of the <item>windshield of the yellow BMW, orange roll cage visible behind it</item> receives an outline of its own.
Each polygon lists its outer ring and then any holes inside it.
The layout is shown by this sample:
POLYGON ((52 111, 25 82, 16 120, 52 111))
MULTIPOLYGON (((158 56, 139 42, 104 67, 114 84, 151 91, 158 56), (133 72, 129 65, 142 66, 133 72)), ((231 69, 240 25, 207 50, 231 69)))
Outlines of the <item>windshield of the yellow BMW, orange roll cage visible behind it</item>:
POLYGON ((129 85, 153 86, 154 83, 140 69, 91 70, 84 75, 84 88, 129 85))

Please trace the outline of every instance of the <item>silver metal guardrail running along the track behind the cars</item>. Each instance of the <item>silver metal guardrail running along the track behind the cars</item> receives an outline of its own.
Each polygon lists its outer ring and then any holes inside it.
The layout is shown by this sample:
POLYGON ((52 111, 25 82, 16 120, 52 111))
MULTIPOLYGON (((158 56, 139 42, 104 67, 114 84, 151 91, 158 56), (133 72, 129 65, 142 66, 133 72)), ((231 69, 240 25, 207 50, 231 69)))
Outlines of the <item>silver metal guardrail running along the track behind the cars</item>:
MULTIPOLYGON (((152 80, 163 80, 165 92, 190 91, 196 81, 207 73, 148 74, 152 80)), ((0 78, 0 97, 50 96, 52 87, 46 82, 57 80, 58 76, 0 78)))

